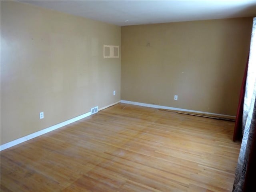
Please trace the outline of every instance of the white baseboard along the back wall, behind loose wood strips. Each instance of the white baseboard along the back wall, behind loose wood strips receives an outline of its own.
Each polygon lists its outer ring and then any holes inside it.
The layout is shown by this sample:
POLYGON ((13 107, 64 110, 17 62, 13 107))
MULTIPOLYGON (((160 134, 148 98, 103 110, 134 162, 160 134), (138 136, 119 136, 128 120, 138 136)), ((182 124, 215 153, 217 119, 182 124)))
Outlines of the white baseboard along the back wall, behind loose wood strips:
POLYGON ((189 109, 181 109, 181 108, 175 108, 175 107, 167 107, 167 106, 162 106, 162 105, 154 105, 154 104, 140 103, 140 102, 134 102, 134 101, 120 100, 120 102, 121 103, 126 103, 126 104, 144 106, 144 107, 158 108, 158 109, 168 109, 168 110, 176 110, 176 111, 182 111, 182 112, 193 112, 193 113, 203 113, 203 114, 210 114, 210 115, 220 115, 220 116, 224 116, 224 117, 227 117, 227 118, 236 117, 236 116, 231 116, 231 115, 224 115, 224 114, 218 114, 218 113, 209 113, 209 112, 195 111, 195 110, 189 110, 189 109))

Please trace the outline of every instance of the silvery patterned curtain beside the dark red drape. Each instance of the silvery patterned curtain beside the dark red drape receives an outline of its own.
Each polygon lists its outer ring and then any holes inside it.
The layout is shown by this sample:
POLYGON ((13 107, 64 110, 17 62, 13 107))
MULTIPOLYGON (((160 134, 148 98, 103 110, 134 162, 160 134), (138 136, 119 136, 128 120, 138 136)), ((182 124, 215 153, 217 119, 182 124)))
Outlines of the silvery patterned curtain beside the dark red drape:
POLYGON ((250 54, 242 115, 242 144, 235 172, 233 192, 256 191, 256 18, 253 19, 250 54))

